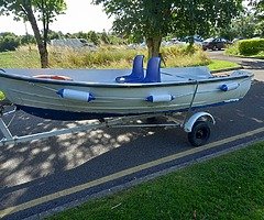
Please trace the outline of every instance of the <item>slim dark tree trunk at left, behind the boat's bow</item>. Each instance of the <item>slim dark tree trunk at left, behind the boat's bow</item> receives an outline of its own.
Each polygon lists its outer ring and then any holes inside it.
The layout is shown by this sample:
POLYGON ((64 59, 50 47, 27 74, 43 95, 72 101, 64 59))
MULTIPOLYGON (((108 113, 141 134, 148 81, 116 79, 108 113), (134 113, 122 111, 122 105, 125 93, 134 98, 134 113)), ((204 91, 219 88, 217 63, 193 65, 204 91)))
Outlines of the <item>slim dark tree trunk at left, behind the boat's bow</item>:
POLYGON ((32 6, 31 4, 25 4, 23 6, 24 10, 26 12, 28 19, 31 23, 32 30, 34 32, 34 36, 36 40, 40 57, 41 57, 41 67, 42 68, 47 68, 48 67, 48 53, 47 53, 47 47, 45 42, 42 40, 40 29, 36 23, 35 15, 32 11, 32 6))

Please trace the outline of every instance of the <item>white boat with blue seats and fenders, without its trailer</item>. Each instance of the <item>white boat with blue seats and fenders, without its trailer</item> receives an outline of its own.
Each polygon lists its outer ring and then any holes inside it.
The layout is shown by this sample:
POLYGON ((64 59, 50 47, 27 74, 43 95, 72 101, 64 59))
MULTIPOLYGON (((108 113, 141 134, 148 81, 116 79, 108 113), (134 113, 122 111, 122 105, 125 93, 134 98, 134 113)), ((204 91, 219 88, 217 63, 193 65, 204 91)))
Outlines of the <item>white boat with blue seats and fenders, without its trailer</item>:
POLYGON ((18 110, 52 120, 186 111, 241 100, 253 75, 213 76, 207 67, 161 68, 152 57, 131 69, 0 69, 0 90, 18 110))

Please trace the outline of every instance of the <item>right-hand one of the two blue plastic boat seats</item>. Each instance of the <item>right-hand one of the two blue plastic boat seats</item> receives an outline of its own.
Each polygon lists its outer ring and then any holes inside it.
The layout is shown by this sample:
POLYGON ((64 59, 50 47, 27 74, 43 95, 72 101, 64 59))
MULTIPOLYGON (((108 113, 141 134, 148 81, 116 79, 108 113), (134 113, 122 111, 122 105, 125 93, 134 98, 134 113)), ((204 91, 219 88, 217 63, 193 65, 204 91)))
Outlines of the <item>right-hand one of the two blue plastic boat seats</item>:
POLYGON ((161 57, 150 58, 143 82, 161 82, 161 57))

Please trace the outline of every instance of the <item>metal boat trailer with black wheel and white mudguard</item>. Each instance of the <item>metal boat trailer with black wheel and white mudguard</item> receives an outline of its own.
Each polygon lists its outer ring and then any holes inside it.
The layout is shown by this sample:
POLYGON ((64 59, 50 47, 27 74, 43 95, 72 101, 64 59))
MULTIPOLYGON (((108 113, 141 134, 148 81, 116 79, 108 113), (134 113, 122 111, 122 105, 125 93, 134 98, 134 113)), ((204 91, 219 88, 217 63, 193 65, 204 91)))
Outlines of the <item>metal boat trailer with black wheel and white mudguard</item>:
POLYGON ((188 141, 194 146, 200 146, 208 142, 210 138, 211 125, 216 123, 213 117, 208 112, 191 113, 190 108, 186 112, 168 112, 168 113, 147 113, 130 117, 107 118, 100 120, 88 121, 86 124, 77 125, 75 128, 61 129, 56 131, 40 132, 29 135, 16 136, 9 130, 15 113, 18 112, 15 106, 12 103, 1 102, 0 105, 0 130, 3 139, 0 140, 0 146, 7 144, 18 144, 22 142, 31 142, 40 139, 47 139, 62 134, 88 132, 96 129, 103 128, 182 128, 188 133, 188 141), (12 110, 6 111, 7 107, 12 107, 12 110), (9 122, 4 122, 7 116, 12 116, 9 122), (185 114, 185 116, 184 116, 185 114), (166 123, 153 123, 154 118, 166 118, 166 123), (146 123, 142 120, 146 119, 146 123), (147 121, 150 123, 147 123, 147 121))

